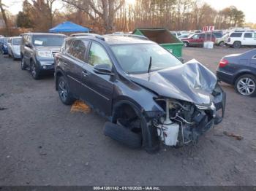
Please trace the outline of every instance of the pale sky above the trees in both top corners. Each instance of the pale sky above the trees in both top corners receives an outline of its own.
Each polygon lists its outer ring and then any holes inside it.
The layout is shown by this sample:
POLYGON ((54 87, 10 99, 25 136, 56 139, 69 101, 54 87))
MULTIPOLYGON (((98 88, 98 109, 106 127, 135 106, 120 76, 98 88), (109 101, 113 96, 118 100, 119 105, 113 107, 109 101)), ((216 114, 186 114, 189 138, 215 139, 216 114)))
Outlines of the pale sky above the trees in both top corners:
MULTIPOLYGON (((134 0, 130 0, 134 1, 134 0)), ((237 9, 240 9, 244 12, 246 22, 256 23, 255 16, 255 0, 199 0, 205 1, 210 4, 214 9, 220 10, 231 5, 236 6, 237 9)), ((12 14, 17 14, 22 9, 23 0, 2 0, 4 4, 8 6, 8 10, 12 14)))

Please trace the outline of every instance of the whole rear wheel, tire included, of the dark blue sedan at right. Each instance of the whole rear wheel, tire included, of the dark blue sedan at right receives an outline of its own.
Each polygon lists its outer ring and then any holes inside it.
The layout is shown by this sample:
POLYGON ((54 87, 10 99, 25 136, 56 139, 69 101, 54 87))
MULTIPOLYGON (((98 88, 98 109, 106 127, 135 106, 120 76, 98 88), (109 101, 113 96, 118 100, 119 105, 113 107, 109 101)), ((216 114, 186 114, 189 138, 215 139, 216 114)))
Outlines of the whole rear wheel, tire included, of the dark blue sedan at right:
POLYGON ((256 96, 256 77, 250 74, 242 75, 236 79, 235 90, 237 93, 255 97, 256 96))

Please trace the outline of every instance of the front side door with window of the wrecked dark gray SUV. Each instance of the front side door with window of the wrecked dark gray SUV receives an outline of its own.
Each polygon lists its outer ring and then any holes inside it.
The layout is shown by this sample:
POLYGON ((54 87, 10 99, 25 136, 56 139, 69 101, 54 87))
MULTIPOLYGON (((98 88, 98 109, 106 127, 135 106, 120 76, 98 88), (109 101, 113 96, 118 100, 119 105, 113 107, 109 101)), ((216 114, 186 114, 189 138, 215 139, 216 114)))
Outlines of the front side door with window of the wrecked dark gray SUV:
POLYGON ((113 63, 105 48, 97 42, 91 42, 88 63, 83 65, 81 74, 83 99, 89 101, 95 109, 110 116, 115 77, 95 73, 93 67, 97 64, 108 64, 110 68, 113 68, 113 63))

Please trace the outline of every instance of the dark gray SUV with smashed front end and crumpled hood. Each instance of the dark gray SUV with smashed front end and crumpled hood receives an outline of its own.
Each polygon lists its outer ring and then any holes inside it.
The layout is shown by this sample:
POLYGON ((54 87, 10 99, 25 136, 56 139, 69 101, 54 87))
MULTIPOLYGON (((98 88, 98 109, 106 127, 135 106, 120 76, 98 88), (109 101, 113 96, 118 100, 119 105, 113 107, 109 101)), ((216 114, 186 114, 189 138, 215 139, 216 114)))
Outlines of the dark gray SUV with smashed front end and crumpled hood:
POLYGON ((142 36, 70 37, 55 62, 61 101, 86 101, 110 121, 105 135, 132 148, 196 142, 224 116, 225 93, 211 71, 142 36))

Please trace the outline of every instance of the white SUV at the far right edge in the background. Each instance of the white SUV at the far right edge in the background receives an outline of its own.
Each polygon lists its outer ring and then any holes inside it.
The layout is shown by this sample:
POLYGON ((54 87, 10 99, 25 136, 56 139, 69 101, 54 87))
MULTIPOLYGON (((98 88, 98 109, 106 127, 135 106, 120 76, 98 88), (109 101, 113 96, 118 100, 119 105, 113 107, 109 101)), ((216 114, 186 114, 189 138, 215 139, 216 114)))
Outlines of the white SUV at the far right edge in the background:
POLYGON ((256 46, 255 32, 233 32, 225 44, 230 47, 239 48, 241 46, 256 46))

